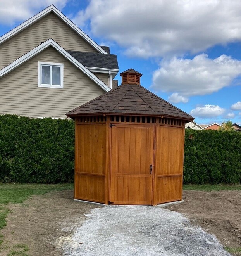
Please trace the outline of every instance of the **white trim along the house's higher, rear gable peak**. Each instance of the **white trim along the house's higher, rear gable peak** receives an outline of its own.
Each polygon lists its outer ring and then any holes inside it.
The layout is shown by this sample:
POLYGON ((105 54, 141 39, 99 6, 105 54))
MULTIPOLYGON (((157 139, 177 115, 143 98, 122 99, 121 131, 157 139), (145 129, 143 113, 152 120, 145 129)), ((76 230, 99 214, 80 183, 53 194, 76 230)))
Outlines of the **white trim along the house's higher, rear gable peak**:
POLYGON ((41 17, 53 12, 56 14, 62 21, 64 21, 70 28, 72 28, 78 35, 84 38, 91 46, 93 46, 98 52, 107 54, 105 50, 103 50, 95 41, 93 41, 86 33, 84 33, 81 29, 79 29, 70 19, 68 19, 62 12, 60 12, 54 5, 50 5, 46 9, 42 10, 38 14, 34 15, 30 19, 24 21, 22 24, 17 26, 16 28, 10 30, 8 33, 0 37, 0 44, 5 42, 10 37, 14 36, 15 34, 19 33, 26 27, 30 26, 32 23, 41 19, 41 17))

